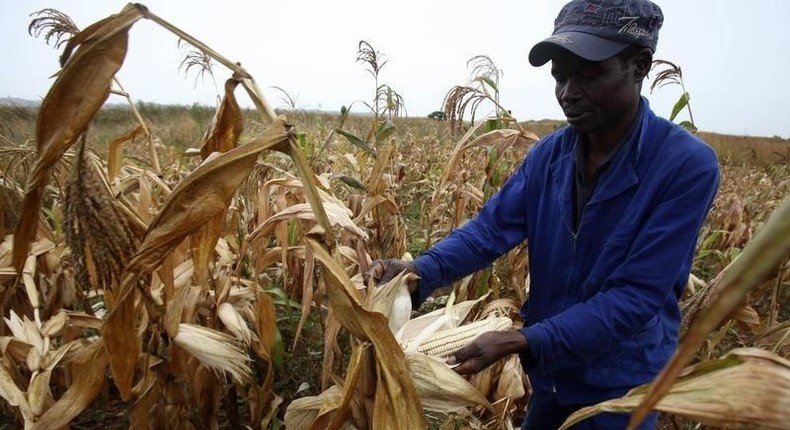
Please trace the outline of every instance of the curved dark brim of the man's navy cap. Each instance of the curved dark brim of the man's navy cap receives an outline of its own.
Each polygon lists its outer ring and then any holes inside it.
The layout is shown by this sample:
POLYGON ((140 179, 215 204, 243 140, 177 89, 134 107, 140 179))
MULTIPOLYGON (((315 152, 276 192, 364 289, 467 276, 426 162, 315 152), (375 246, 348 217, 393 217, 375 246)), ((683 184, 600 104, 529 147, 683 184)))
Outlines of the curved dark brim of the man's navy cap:
POLYGON ((529 63, 535 67, 542 66, 557 55, 559 50, 567 50, 588 61, 603 61, 628 46, 627 43, 615 42, 588 33, 566 31, 552 35, 538 42, 529 51, 529 63))

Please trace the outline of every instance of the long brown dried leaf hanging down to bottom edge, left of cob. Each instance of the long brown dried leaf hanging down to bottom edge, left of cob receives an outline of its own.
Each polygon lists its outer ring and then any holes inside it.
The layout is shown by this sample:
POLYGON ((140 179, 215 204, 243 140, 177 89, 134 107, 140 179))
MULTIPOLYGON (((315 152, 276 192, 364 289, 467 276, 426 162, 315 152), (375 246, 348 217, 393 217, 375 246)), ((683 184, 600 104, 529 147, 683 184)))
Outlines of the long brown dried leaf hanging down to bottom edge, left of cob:
POLYGON ((316 240, 316 236, 323 236, 323 233, 312 232, 306 240, 313 248, 316 259, 326 269, 329 303, 346 329, 357 338, 370 341, 375 348, 378 381, 373 422, 381 429, 426 428, 422 405, 406 366, 405 356, 392 336, 387 319, 378 312, 366 310, 358 301, 351 279, 316 240))

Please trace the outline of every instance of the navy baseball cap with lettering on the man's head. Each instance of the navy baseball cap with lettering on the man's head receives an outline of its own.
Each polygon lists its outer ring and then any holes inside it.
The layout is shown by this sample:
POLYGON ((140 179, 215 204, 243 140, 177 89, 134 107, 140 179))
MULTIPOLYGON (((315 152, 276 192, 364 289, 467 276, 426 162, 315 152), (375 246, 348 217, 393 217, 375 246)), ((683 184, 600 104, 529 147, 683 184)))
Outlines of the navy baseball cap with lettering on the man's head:
POLYGON ((529 51, 533 66, 546 64, 557 48, 602 61, 629 45, 656 50, 664 15, 648 0, 573 0, 554 20, 551 37, 529 51))

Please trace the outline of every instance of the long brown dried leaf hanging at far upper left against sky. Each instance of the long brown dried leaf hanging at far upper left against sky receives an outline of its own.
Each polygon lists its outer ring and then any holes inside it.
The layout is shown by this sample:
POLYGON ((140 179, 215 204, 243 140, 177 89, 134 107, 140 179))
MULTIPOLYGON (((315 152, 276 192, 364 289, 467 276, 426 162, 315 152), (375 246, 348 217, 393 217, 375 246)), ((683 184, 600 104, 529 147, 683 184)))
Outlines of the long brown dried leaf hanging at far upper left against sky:
POLYGON ((126 57, 128 31, 142 17, 140 8, 129 5, 119 14, 102 20, 77 34, 67 45, 70 53, 81 43, 50 88, 39 109, 36 124, 38 157, 33 166, 22 203, 22 213, 14 234, 13 266, 21 270, 30 242, 34 239, 41 200, 49 169, 60 159, 110 95, 113 76, 126 57), (36 214, 36 215, 34 215, 36 214))

